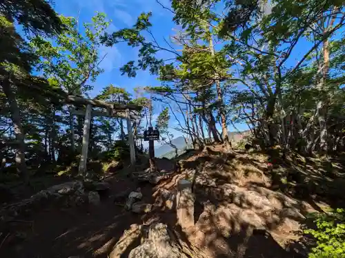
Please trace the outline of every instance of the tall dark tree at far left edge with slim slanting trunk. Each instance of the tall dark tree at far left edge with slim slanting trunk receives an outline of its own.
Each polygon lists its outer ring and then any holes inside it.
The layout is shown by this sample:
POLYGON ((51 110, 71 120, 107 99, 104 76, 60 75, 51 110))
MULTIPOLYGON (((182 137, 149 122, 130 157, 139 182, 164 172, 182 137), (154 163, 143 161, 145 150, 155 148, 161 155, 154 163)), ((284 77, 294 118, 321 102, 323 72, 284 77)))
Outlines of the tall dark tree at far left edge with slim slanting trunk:
POLYGON ((26 167, 23 127, 21 115, 16 99, 18 89, 27 87, 46 87, 46 83, 35 76, 31 76, 32 65, 37 61, 37 56, 30 52, 26 41, 17 34, 13 23, 23 25, 27 32, 41 34, 57 34, 63 30, 63 25, 46 1, 3 1, 0 3, 0 77, 3 93, 8 99, 14 134, 16 136, 16 164, 17 171, 28 183, 28 171, 26 167))

